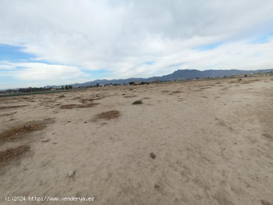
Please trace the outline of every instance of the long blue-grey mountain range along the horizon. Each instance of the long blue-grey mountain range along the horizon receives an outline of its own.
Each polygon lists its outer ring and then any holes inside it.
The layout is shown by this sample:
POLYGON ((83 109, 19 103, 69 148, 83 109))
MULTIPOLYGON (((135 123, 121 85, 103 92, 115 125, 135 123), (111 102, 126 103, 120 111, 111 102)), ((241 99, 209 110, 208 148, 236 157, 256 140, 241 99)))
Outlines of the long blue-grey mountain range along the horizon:
MULTIPOLYGON (((197 77, 204 78, 204 77, 221 77, 221 76, 231 76, 231 75, 239 75, 239 74, 248 74, 248 73, 255 73, 255 72, 262 72, 262 71, 273 71, 273 69, 260 69, 260 70, 237 70, 237 69, 231 69, 231 70, 196 70, 196 69, 183 69, 183 70, 176 70, 171 74, 163 75, 163 76, 154 76, 154 77, 148 77, 148 78, 127 78, 127 79, 113 79, 113 80, 93 80, 89 82, 84 83, 74 83, 70 84, 73 87, 78 86, 90 86, 90 85, 96 85, 99 84, 115 84, 115 83, 128 83, 128 82, 136 82, 136 81, 146 81, 146 82, 152 82, 156 79, 158 80, 182 80, 182 79, 194 79, 197 77)), ((46 87, 60 87, 64 85, 47 85, 46 87)))

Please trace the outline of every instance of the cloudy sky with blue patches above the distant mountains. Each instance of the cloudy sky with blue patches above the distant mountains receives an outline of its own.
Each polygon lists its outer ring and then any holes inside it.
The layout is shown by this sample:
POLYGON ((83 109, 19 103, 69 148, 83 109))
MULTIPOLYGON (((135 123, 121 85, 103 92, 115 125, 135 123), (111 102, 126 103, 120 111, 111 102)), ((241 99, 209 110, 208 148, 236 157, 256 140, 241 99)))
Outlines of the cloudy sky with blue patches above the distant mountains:
POLYGON ((273 0, 1 0, 0 89, 273 68, 273 0))

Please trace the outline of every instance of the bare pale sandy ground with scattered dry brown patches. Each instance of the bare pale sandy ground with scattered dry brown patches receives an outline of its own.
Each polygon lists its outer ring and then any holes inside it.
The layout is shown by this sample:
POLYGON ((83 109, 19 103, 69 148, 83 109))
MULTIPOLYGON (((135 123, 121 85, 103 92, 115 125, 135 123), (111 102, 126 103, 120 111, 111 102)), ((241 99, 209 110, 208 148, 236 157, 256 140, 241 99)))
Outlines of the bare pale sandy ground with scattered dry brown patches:
POLYGON ((273 205, 273 77, 0 98, 0 195, 273 205))

